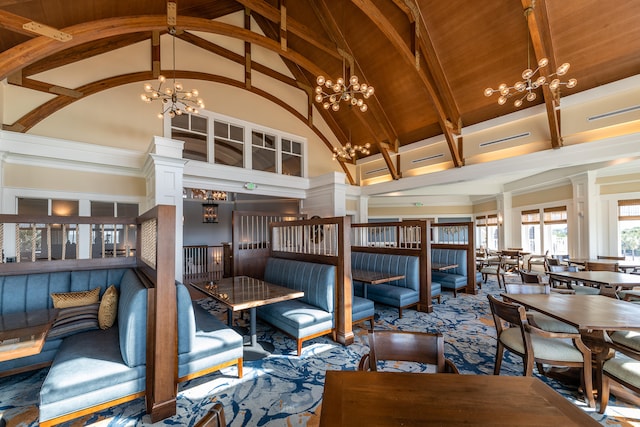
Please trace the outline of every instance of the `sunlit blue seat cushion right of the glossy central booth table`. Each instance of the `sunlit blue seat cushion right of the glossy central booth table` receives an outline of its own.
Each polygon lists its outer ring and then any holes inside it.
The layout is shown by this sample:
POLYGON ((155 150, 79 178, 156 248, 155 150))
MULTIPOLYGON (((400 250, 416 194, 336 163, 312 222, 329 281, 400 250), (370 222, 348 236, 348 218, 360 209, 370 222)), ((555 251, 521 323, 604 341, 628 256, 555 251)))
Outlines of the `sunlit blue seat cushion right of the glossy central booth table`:
POLYGON ((258 316, 294 338, 304 338, 333 328, 333 314, 300 300, 258 307, 258 316))

